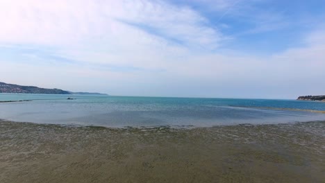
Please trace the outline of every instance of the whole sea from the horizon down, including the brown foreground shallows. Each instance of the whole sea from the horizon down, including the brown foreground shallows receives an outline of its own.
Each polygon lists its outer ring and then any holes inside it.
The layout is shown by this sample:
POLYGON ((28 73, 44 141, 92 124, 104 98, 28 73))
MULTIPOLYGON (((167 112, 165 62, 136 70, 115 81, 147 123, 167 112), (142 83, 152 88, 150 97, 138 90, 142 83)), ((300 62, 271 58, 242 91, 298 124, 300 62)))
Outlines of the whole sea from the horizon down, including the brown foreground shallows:
POLYGON ((17 101, 0 103, 1 183, 325 180, 322 102, 49 94, 0 101, 17 101))

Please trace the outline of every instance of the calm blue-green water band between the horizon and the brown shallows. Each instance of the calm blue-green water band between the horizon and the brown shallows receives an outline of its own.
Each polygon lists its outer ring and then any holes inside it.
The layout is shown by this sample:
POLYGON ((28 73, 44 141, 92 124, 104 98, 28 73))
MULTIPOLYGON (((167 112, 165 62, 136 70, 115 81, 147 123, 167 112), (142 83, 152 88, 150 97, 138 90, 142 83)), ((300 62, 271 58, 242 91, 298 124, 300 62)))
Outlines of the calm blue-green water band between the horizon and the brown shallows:
POLYGON ((0 101, 16 100, 32 101, 0 103, 0 119, 117 128, 210 127, 325 120, 322 113, 275 109, 325 111, 325 103, 294 100, 0 94, 0 101), (76 100, 67 100, 67 97, 76 100))

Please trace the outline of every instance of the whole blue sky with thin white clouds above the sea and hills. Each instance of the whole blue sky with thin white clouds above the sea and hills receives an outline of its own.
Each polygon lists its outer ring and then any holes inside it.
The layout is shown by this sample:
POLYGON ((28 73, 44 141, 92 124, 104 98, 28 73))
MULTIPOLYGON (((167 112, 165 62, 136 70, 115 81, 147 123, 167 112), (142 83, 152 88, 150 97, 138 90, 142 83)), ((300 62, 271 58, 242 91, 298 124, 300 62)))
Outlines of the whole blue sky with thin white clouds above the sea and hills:
POLYGON ((117 96, 325 94, 323 0, 0 0, 0 82, 117 96))

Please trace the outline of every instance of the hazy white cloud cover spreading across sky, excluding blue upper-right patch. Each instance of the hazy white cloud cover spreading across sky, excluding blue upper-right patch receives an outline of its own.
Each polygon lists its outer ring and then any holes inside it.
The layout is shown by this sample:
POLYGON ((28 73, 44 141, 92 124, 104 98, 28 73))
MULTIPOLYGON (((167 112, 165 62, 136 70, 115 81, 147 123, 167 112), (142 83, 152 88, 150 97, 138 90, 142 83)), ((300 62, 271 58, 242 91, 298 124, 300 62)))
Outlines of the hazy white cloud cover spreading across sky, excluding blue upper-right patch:
MULTIPOLYGON (((229 8, 220 2, 219 10, 229 8)), ((20 54, 25 62, 19 63, 0 56, 1 80, 17 84, 178 96, 249 97, 242 91, 261 89, 260 97, 292 97, 297 92, 283 86, 308 87, 310 94, 325 89, 311 85, 325 78, 323 28, 304 47, 260 57, 211 51, 226 36, 189 6, 163 1, 0 1, 0 22, 2 47, 35 52, 20 54)))

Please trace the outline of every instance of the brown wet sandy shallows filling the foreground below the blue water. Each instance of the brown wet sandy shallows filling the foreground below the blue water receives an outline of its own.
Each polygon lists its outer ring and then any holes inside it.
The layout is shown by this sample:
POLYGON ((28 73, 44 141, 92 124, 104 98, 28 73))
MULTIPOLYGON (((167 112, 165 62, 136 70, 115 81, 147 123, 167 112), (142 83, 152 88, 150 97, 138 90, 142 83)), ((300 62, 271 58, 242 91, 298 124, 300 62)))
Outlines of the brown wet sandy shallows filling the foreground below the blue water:
POLYGON ((124 128, 0 121, 0 182, 324 182, 325 121, 124 128))

